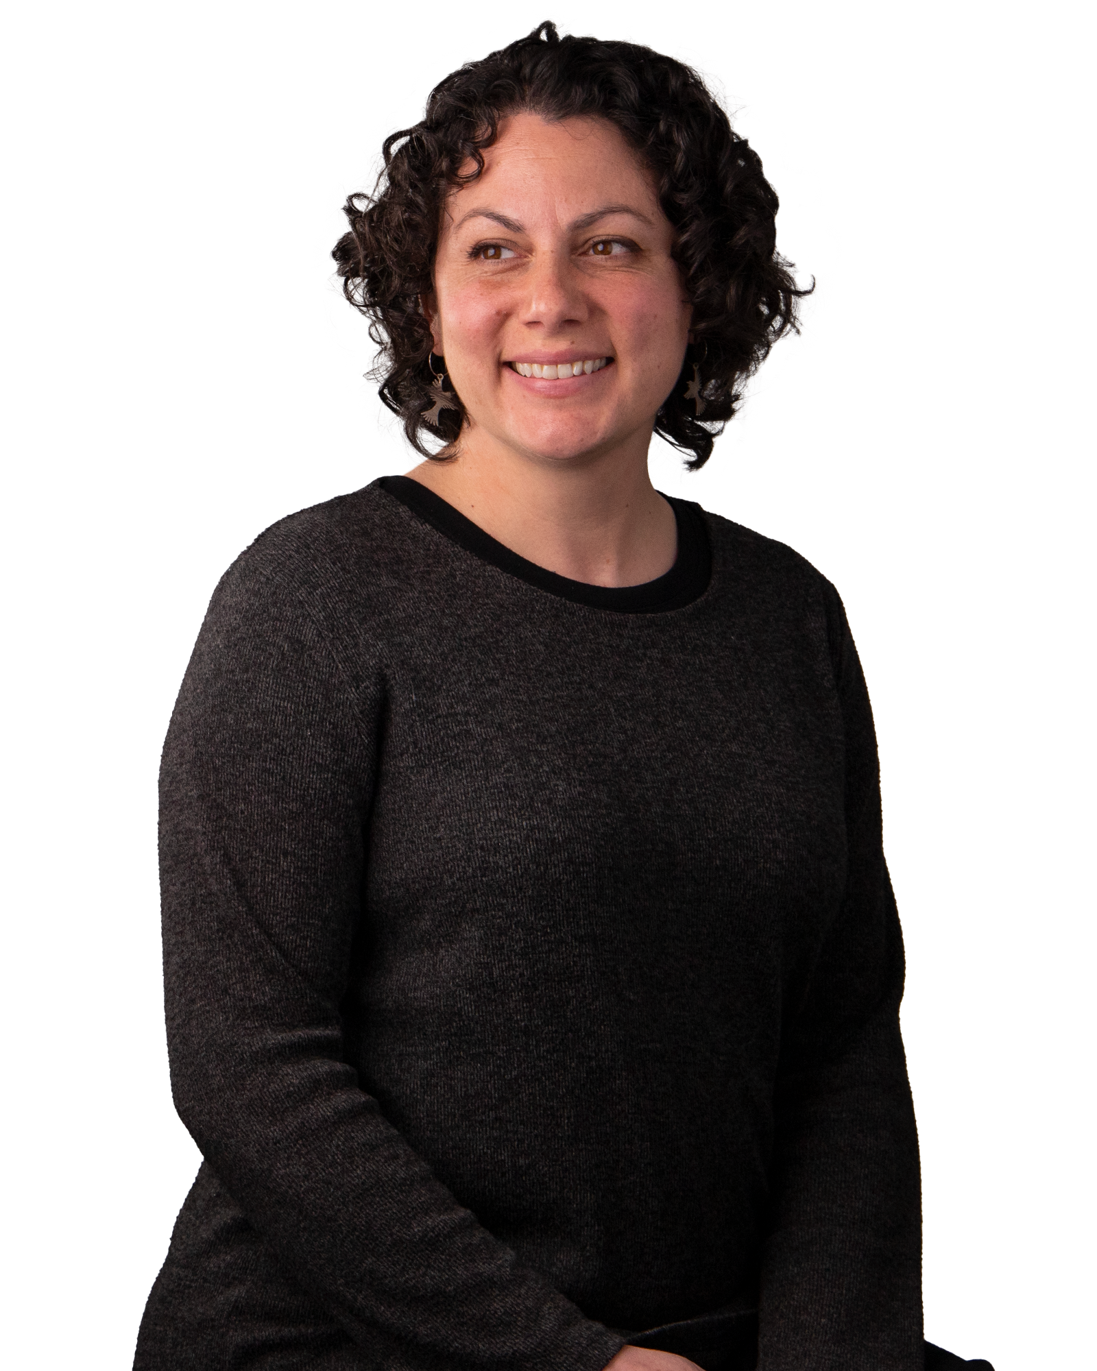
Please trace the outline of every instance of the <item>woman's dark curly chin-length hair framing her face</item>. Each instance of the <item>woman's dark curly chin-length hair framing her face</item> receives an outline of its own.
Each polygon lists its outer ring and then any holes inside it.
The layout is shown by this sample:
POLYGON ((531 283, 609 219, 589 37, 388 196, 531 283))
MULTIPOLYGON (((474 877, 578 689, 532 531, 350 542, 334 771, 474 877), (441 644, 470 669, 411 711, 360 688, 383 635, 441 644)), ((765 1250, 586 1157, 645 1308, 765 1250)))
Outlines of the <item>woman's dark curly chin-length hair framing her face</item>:
POLYGON ((692 303, 695 340, 655 432, 690 454, 684 466, 697 470, 739 413, 745 383, 786 333, 799 333, 798 298, 810 291, 797 287, 777 255, 780 203, 758 154, 697 71, 636 43, 561 38, 546 19, 447 75, 431 90, 422 122, 384 140, 373 192, 347 196, 350 228, 332 250, 343 298, 369 319, 377 347, 366 376, 417 452, 451 455, 466 413, 448 392, 453 409, 432 421, 424 415, 433 398, 433 339, 420 296, 433 289, 446 196, 480 175, 483 149, 517 111, 607 119, 653 173, 675 229, 672 255, 692 303), (474 170, 462 177, 469 160, 474 170), (694 365, 703 410, 686 399, 694 365))

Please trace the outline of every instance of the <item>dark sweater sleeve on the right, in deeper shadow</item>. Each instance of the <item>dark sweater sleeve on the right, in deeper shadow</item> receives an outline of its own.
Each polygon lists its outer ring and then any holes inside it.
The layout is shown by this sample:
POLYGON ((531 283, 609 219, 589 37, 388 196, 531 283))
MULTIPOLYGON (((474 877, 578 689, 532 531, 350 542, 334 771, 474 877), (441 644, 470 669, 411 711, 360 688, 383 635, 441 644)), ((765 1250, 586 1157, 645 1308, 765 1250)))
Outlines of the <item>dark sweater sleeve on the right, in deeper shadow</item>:
POLYGON ((917 1131, 900 1035, 902 934, 882 846, 876 736, 827 585, 845 735, 846 888, 790 1005, 760 1308, 760 1371, 920 1371, 917 1131))

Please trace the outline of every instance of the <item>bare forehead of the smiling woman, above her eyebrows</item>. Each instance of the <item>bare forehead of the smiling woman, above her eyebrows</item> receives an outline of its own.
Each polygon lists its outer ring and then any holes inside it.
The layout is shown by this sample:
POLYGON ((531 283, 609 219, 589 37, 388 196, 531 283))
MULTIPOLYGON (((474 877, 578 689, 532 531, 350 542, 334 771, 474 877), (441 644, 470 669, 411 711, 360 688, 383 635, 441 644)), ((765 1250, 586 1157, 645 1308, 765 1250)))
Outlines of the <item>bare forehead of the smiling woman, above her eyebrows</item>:
MULTIPOLYGON (((499 123, 499 136, 483 149, 484 170, 447 196, 448 217, 485 197, 558 200, 569 206, 592 195, 657 206, 655 182, 639 154, 607 119, 543 119, 522 111, 499 123)), ((469 159, 462 174, 474 171, 469 159)), ((511 206, 513 207, 513 206, 511 206)))

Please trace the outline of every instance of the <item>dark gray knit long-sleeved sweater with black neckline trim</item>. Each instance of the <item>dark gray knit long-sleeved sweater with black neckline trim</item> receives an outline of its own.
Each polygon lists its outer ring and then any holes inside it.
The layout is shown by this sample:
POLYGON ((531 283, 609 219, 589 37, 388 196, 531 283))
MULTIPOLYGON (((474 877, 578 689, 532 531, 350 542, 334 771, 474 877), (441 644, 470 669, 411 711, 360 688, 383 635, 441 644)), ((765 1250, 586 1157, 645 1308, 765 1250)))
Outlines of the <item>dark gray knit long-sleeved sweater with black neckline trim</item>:
POLYGON ((751 1331, 710 1371, 920 1371, 838 592, 683 502, 675 569, 614 591, 384 487, 233 563, 171 718, 169 1050, 206 1163, 138 1371, 601 1371, 712 1311, 751 1331))

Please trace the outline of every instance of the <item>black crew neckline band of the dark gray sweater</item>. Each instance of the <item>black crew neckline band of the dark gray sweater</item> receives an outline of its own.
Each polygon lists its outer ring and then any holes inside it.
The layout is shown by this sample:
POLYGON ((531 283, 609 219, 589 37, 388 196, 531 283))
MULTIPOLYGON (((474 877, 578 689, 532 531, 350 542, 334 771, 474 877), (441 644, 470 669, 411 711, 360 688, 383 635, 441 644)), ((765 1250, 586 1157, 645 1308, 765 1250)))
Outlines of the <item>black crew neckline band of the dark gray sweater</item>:
MULTIPOLYGON (((381 489, 406 505, 421 520, 453 539, 454 543, 474 557, 498 566, 499 570, 517 576, 538 590, 558 595, 561 599, 592 609, 614 610, 618 614, 658 614, 666 610, 684 609, 705 594, 712 576, 712 550, 705 528, 705 518, 697 505, 688 500, 671 499, 664 495, 675 511, 677 524, 677 557, 669 572, 654 581, 640 585, 591 585, 587 581, 573 581, 568 576, 538 566, 536 562, 511 553, 498 539, 473 524, 448 500, 435 495, 410 476, 383 476, 377 484, 381 489)), ((662 492, 660 492, 662 494, 662 492)))

